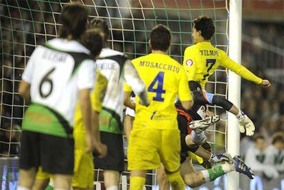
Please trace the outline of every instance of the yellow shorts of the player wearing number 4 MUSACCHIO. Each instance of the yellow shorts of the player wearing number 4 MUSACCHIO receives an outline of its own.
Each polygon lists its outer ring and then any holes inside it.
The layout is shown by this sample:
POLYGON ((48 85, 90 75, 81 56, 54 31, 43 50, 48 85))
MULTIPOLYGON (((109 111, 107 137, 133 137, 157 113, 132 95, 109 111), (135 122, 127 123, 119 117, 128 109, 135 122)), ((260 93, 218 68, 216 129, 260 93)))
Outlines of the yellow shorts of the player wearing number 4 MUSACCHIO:
POLYGON ((180 167, 180 130, 133 129, 128 144, 128 169, 158 169, 170 172, 180 167))

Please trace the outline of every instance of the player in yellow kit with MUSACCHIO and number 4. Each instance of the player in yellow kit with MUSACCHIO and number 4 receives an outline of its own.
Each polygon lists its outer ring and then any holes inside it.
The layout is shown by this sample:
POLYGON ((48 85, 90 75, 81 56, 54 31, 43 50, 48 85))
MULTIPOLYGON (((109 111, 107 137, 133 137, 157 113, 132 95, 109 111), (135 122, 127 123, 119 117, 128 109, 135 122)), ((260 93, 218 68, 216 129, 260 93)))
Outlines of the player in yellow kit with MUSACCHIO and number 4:
MULTIPOLYGON (((143 189, 147 169, 158 169, 163 163, 173 189, 185 189, 180 176, 180 132, 174 106, 178 95, 182 106, 192 106, 185 70, 167 56, 171 33, 164 25, 156 25, 150 34, 152 54, 132 60, 145 82, 150 106, 139 104, 128 144, 130 189, 143 189)), ((126 85, 125 91, 131 92, 126 85)))

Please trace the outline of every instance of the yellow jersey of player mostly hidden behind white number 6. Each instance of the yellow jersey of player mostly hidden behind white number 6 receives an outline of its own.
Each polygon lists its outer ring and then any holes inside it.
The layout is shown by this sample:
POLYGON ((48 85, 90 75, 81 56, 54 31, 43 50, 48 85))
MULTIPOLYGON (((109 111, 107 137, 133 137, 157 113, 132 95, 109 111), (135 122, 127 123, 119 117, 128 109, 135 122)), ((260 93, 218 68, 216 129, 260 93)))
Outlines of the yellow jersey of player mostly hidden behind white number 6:
MULTIPOLYGON (((104 95, 106 94, 106 88, 108 86, 108 80, 101 72, 97 70, 97 79, 95 82, 95 88, 91 93, 91 106, 92 110, 96 112, 100 112, 102 110, 102 102, 104 101, 104 95)), ((73 128, 73 136, 75 141, 75 149, 77 148, 85 148, 86 141, 85 135, 86 130, 82 120, 82 112, 80 108, 80 102, 78 102, 75 109, 75 117, 74 117, 74 128, 73 128)))

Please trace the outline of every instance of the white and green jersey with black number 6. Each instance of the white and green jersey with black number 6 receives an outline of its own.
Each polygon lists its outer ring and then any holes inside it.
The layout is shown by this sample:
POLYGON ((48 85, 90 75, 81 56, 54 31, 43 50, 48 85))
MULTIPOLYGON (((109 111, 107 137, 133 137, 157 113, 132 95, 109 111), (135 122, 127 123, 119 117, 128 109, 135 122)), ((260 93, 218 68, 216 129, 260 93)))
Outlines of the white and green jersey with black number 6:
POLYGON ((95 62, 90 54, 77 41, 61 38, 36 47, 22 76, 30 84, 32 102, 23 130, 72 136, 78 93, 95 84, 95 62))

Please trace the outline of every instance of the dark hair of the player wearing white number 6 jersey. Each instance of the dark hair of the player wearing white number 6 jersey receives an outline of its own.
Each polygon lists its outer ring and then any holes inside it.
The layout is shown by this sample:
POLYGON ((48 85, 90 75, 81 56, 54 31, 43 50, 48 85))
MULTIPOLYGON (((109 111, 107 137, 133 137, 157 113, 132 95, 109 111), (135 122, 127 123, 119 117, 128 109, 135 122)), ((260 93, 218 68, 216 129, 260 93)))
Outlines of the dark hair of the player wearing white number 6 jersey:
POLYGON ((69 34, 77 40, 86 30, 88 10, 80 3, 68 3, 64 5, 60 15, 60 38, 67 38, 69 34))

